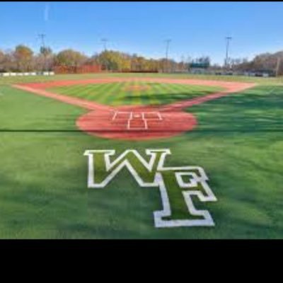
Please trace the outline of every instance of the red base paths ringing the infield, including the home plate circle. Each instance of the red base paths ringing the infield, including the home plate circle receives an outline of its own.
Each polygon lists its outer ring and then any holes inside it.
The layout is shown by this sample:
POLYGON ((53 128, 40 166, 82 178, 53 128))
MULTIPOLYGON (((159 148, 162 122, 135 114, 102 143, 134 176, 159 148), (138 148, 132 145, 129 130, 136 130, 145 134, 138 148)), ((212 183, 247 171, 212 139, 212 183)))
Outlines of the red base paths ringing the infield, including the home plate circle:
POLYGON ((204 81, 195 79, 156 79, 156 78, 108 78, 74 81, 50 81, 45 83, 21 83, 14 85, 24 91, 60 100, 64 103, 86 108, 90 112, 76 120, 76 126, 84 132, 108 139, 145 140, 173 137, 194 129, 197 119, 185 108, 209 100, 237 93, 255 86, 255 83, 227 81, 204 81), (224 91, 199 98, 181 100, 162 106, 127 105, 117 108, 101 105, 81 98, 72 98, 46 91, 46 88, 89 83, 113 83, 124 81, 146 81, 155 83, 180 83, 200 86, 220 86, 224 91))

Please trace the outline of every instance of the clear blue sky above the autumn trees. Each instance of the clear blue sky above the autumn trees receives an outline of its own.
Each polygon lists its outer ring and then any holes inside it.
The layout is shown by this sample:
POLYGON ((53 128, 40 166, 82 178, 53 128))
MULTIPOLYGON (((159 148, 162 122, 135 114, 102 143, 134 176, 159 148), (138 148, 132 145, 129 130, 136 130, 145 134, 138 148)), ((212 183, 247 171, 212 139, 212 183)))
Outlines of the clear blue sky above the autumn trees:
POLYGON ((252 58, 283 50, 280 2, 1 2, 0 49, 23 43, 38 51, 39 33, 58 52, 74 48, 91 55, 108 49, 180 60, 208 55, 224 61, 226 35, 231 57, 252 58))

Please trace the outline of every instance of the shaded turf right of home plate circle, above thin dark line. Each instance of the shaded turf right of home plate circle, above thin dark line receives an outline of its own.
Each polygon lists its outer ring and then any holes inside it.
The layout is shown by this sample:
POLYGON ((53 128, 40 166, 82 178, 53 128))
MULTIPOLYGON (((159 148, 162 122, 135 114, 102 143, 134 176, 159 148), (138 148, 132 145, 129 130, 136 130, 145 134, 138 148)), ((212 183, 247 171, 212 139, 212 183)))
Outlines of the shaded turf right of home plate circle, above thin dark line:
POLYGON ((257 87, 187 108, 197 132, 282 132, 283 87, 257 87))

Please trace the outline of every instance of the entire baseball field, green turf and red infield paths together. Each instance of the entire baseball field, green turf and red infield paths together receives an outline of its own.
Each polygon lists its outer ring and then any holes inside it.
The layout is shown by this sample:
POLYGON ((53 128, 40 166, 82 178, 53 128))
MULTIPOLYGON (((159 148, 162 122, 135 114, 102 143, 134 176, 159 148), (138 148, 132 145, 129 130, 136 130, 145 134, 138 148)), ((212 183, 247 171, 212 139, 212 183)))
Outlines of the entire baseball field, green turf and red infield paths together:
MULTIPOLYGON (((282 238, 282 117, 283 79, 0 78, 0 238, 282 238), (168 168, 203 168, 212 202, 195 193, 189 204, 183 188, 202 186, 180 188, 169 171, 167 202, 164 190, 137 182, 158 166, 146 171, 134 152, 151 163, 146 150, 161 149, 170 151, 168 168), (115 158, 132 150, 132 171, 125 166, 95 188, 86 151, 110 150, 115 158), (158 226, 167 204, 163 221, 175 226, 158 226), (193 209, 209 212, 210 225, 181 225, 200 219, 193 209)), ((102 182, 103 157, 93 162, 102 182)))

